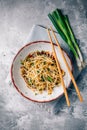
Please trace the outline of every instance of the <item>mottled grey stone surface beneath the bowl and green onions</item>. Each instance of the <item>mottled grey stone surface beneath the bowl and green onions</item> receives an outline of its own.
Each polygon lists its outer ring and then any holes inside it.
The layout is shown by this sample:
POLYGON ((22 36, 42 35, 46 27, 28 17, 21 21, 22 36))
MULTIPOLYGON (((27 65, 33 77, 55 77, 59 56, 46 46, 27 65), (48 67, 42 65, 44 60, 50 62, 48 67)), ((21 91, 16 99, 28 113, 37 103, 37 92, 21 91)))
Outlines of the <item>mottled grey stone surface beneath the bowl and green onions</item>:
POLYGON ((57 7, 69 15, 87 61, 86 0, 0 0, 0 130, 87 130, 87 68, 77 80, 84 102, 79 102, 73 90, 70 108, 64 97, 57 104, 33 103, 5 82, 12 59, 33 24, 49 25, 47 14, 57 7))

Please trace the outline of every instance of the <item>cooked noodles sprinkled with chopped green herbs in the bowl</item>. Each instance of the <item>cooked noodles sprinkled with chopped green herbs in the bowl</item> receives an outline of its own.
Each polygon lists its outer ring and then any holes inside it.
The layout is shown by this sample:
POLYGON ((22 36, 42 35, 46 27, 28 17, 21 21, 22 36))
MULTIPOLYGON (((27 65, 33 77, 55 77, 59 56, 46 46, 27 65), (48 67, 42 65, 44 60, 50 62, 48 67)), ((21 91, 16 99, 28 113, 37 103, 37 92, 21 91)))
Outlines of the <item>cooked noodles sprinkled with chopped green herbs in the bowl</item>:
MULTIPOLYGON (((47 91, 52 94, 53 88, 61 83, 54 56, 48 51, 36 51, 30 53, 21 60, 21 76, 26 85, 39 94, 47 91)), ((65 72, 61 69, 62 76, 65 72)))

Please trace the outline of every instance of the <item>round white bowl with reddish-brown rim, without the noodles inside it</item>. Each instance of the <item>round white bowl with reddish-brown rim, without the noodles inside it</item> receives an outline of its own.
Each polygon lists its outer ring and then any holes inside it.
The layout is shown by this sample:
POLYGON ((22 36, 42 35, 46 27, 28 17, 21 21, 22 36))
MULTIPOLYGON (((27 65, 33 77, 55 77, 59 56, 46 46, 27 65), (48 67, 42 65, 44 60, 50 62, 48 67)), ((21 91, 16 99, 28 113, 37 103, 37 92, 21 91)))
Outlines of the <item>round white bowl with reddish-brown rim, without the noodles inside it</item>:
MULTIPOLYGON (((61 68, 65 71, 64 82, 65 82, 66 88, 68 88, 70 86, 71 78, 68 74, 67 67, 61 57, 61 54, 59 53, 58 47, 56 46, 56 44, 54 44, 54 46, 55 46, 56 54, 57 54, 59 63, 61 65, 61 68)), ((52 47, 51 47, 50 42, 48 41, 35 41, 22 47, 13 59, 12 66, 11 66, 11 79, 15 88, 23 97, 29 100, 35 101, 35 102, 53 101, 59 98, 63 94, 63 88, 61 85, 58 87, 54 87, 51 95, 48 95, 46 91, 44 91, 42 94, 35 95, 35 93, 26 86, 26 83, 20 74, 20 66, 21 66, 20 60, 24 59, 29 53, 37 51, 37 50, 38 51, 44 50, 44 51, 52 52, 52 47)), ((72 67, 71 60, 64 50, 63 50, 63 53, 72 71, 73 67, 72 67)))

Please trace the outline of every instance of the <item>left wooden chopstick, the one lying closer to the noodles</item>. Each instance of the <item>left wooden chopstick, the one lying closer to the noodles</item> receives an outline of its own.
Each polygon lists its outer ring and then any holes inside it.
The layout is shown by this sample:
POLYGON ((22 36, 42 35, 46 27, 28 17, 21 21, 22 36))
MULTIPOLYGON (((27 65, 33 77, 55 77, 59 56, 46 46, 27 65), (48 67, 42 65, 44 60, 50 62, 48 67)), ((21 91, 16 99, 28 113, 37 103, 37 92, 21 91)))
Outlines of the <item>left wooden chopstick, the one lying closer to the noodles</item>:
POLYGON ((59 64, 58 58, 56 56, 55 48, 54 48, 54 45, 53 45, 53 42, 52 42, 52 38, 51 38, 49 29, 47 29, 47 32, 48 32, 48 36, 49 36, 50 43, 51 43, 51 46, 52 46, 53 54, 54 54, 54 57, 55 57, 55 60, 56 60, 57 68, 59 70, 61 84, 62 84, 62 87, 63 87, 63 90, 64 90, 66 102, 67 102, 67 105, 70 106, 70 101, 69 101, 69 98, 68 98, 66 86, 65 86, 65 83, 64 83, 64 80, 63 80, 63 77, 62 77, 62 72, 61 72, 61 69, 60 69, 60 64, 59 64))

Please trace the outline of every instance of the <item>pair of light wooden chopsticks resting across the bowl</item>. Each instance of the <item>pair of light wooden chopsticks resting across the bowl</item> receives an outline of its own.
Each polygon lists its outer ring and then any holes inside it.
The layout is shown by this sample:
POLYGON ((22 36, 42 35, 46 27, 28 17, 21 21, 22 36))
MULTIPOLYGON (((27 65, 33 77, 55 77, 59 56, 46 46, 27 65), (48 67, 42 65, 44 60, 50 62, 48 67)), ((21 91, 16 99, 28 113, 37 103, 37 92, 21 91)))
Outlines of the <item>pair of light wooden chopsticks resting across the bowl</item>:
MULTIPOLYGON (((67 63, 67 61, 66 61, 66 59, 65 59, 65 57, 64 57, 63 51, 62 51, 62 49, 61 49, 61 47, 60 47, 60 44, 59 44, 59 42, 58 42, 58 40, 57 40, 57 37, 56 37, 56 35, 55 35, 55 33, 54 33, 52 27, 51 27, 50 29, 51 29, 51 31, 52 31, 52 35, 53 35, 54 40, 55 40, 55 42, 56 42, 56 44, 57 44, 57 47, 58 47, 58 49, 59 49, 59 52, 60 52, 60 54, 61 54, 61 56, 62 56, 62 58, 63 58, 63 60, 64 60, 64 62, 65 62, 65 65, 66 65, 67 70, 68 70, 68 73, 69 73, 69 75, 70 75, 70 77, 71 77, 72 83, 73 83, 73 85, 74 85, 74 87, 75 87, 75 90, 76 90, 76 93, 77 93, 77 95, 78 95, 78 98, 79 98, 79 100, 82 102, 82 101, 83 101, 83 98, 82 98, 82 96, 81 96, 81 94, 80 94, 79 88, 78 88, 78 86, 77 86, 77 84, 76 84, 76 81, 75 81, 74 76, 73 76, 73 74, 72 74, 72 72, 71 72, 71 70, 70 70, 70 67, 69 67, 69 65, 68 65, 68 63, 67 63)), ((48 36, 49 36, 50 43, 51 43, 51 46, 52 46, 53 54, 54 54, 54 57, 55 57, 55 60, 56 60, 57 68, 58 68, 58 70, 59 70, 59 75, 60 75, 61 84, 62 84, 62 87, 63 87, 63 90, 64 90, 66 102, 67 102, 67 105, 70 106, 70 101, 69 101, 68 93, 67 93, 66 86, 65 86, 65 83, 64 83, 64 80, 63 80, 63 77, 62 77, 62 72, 61 72, 60 64, 59 64, 59 61, 58 61, 58 58, 57 58, 57 55, 56 55, 56 51, 55 51, 55 48, 54 48, 54 45, 53 45, 53 42, 52 42, 52 38, 51 38, 49 29, 47 29, 47 32, 48 32, 48 36)))

